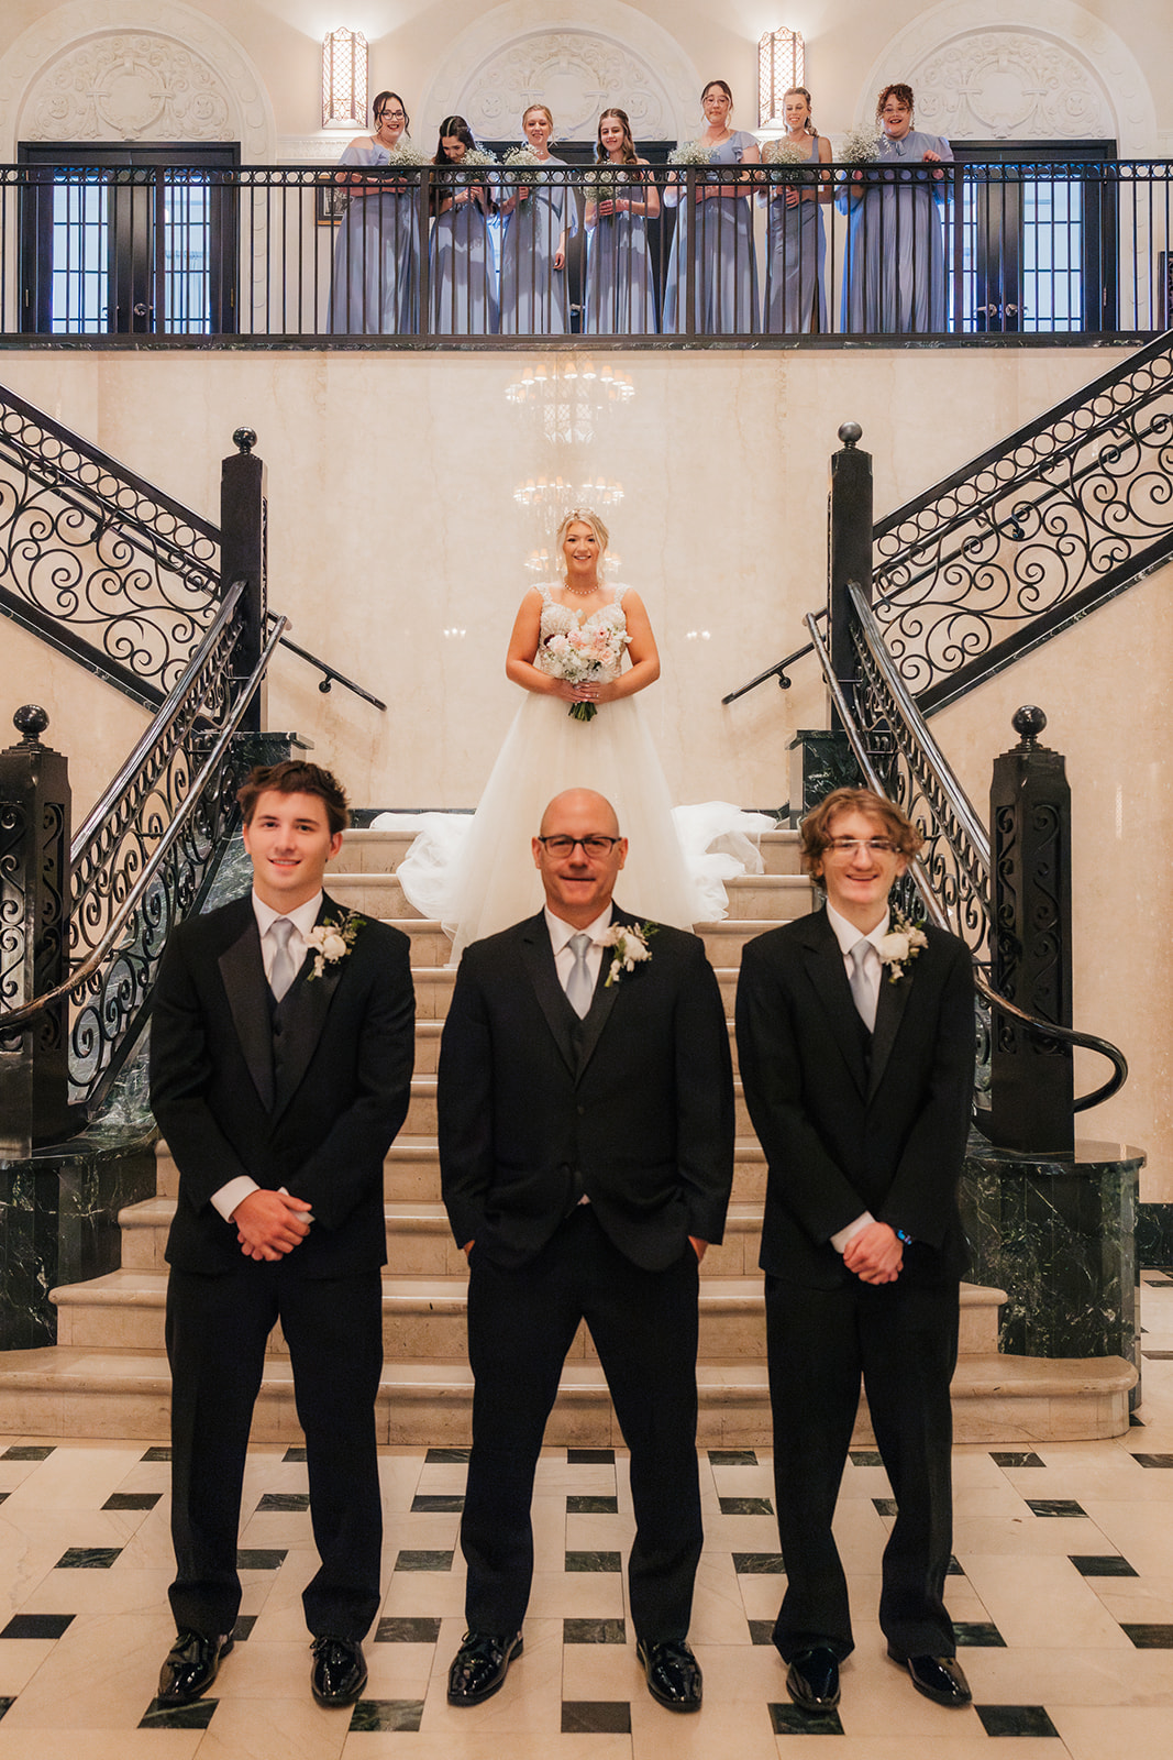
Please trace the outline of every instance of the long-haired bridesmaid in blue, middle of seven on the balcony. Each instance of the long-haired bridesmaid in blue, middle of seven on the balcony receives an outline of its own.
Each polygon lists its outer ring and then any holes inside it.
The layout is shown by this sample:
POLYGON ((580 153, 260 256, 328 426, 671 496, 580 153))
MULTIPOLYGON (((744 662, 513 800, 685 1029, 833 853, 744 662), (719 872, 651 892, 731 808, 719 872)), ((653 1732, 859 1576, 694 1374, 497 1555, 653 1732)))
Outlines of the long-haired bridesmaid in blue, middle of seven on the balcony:
POLYGON ((630 336, 656 329, 656 294, 647 260, 647 222, 659 213, 659 190, 640 181, 619 181, 624 165, 647 165, 635 151, 628 113, 605 109, 598 120, 600 165, 617 172, 614 195, 601 190, 586 204, 587 280, 584 329, 594 336, 630 336))

